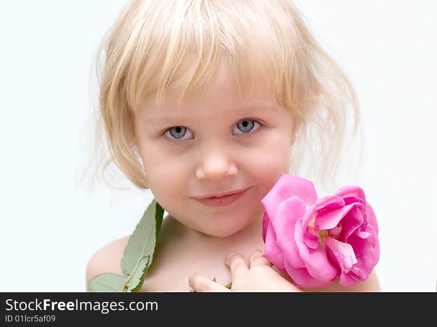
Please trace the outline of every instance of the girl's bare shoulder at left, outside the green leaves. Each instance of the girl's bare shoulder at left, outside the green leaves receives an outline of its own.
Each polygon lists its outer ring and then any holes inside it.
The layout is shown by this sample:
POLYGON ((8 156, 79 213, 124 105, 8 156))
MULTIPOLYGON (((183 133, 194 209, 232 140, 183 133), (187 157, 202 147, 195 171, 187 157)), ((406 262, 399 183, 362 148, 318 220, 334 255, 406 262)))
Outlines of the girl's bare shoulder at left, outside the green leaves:
POLYGON ((112 272, 123 275, 121 259, 125 247, 129 242, 130 235, 116 239, 98 249, 89 259, 86 265, 86 291, 88 283, 94 277, 104 272, 112 272))

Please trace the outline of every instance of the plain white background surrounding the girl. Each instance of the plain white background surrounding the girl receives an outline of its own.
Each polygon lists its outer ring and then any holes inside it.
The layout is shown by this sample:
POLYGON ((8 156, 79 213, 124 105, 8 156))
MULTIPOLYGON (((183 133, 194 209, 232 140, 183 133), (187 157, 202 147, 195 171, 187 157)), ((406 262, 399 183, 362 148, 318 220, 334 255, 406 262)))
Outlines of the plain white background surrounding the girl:
MULTIPOLYGON (((0 290, 84 291, 101 246, 151 194, 80 184, 91 59, 125 0, 0 3, 0 290)), ((379 223, 383 291, 435 292, 437 2, 301 0, 362 106, 355 180, 379 223)))

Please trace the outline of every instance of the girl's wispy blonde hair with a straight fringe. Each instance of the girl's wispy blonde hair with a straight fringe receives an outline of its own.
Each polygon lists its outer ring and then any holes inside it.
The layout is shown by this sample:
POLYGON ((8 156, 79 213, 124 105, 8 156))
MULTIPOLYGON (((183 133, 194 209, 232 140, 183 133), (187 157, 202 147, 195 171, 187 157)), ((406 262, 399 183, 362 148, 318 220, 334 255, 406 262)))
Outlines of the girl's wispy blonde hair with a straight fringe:
POLYGON ((155 96, 157 104, 163 103, 169 84, 187 73, 182 64, 186 58, 194 68, 180 101, 202 92, 222 53, 229 82, 240 95, 250 94, 261 73, 278 103, 299 122, 290 173, 314 175, 323 185, 334 181, 348 128, 356 134, 359 127, 357 95, 289 0, 129 1, 96 57, 97 136, 105 137, 99 144, 106 141, 109 150, 103 171, 114 163, 135 186, 147 189, 133 113, 146 98, 155 96))

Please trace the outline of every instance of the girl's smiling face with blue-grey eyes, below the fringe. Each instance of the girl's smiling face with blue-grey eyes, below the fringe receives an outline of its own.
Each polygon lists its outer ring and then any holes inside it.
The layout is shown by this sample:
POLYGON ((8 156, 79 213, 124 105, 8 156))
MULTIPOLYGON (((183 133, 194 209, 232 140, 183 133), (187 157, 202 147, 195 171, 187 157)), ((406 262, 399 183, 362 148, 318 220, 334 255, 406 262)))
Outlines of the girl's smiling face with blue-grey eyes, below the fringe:
POLYGON ((225 74, 220 65, 205 95, 181 106, 179 93, 169 88, 165 105, 144 102, 134 123, 155 199, 180 223, 218 237, 262 218, 261 199, 289 173, 295 134, 291 115, 272 92, 260 85, 253 96, 239 98, 224 82, 225 74), (197 199, 241 190, 246 191, 225 205, 197 199))

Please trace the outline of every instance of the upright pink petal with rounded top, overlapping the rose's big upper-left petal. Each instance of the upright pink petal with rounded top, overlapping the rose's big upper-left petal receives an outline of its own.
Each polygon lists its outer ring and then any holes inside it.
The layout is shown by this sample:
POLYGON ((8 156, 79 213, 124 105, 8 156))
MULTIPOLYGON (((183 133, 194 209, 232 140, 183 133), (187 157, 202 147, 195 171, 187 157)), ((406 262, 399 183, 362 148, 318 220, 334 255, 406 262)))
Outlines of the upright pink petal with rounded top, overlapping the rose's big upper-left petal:
POLYGON ((276 243, 283 251, 284 257, 295 267, 305 267, 294 239, 296 221, 302 218, 305 212, 305 203, 299 197, 292 196, 279 205, 275 217, 270 219, 275 229, 276 243))

